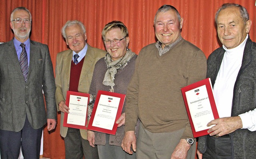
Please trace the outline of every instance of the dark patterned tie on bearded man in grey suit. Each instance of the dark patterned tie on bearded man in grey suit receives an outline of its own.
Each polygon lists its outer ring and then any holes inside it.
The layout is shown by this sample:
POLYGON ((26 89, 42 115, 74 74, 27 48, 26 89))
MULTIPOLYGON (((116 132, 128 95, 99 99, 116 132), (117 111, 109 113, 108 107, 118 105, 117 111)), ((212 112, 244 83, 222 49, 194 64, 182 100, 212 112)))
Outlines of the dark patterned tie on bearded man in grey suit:
POLYGON ((20 46, 22 47, 22 51, 20 54, 20 68, 22 70, 23 77, 27 82, 28 79, 28 54, 25 49, 25 44, 21 43, 20 46))

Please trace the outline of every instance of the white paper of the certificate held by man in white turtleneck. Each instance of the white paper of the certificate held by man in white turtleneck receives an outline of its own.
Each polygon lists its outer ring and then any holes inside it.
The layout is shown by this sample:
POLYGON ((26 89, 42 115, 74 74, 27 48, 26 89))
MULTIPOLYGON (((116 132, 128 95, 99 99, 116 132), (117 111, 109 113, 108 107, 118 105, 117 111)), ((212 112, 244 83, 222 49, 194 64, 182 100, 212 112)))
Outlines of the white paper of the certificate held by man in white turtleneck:
POLYGON ((194 124, 195 131, 210 129, 207 123, 214 120, 212 107, 208 97, 206 85, 186 91, 188 107, 194 124), (200 90, 200 91, 199 91, 200 90))

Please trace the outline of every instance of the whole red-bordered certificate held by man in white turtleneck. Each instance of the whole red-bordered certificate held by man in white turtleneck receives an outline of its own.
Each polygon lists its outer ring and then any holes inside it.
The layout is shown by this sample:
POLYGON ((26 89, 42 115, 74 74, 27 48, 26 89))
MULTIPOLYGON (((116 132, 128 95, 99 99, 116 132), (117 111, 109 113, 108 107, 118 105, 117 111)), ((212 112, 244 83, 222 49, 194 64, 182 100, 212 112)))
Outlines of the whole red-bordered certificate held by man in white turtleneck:
POLYGON ((210 78, 203 79, 181 89, 193 136, 208 135, 207 123, 218 119, 218 111, 210 78))

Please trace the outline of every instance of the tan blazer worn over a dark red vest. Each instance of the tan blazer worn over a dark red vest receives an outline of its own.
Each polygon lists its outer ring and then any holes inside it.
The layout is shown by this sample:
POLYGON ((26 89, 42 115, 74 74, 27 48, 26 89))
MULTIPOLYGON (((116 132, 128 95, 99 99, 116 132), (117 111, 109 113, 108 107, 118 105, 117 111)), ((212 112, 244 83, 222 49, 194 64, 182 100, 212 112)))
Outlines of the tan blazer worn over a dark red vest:
MULTIPOLYGON (((106 55, 106 51, 93 48, 88 45, 86 55, 84 57, 84 64, 82 66, 78 91, 82 93, 88 93, 90 84, 92 81, 92 74, 94 65, 96 62, 106 55)), ((67 91, 69 90, 70 81, 70 67, 72 62, 72 50, 66 50, 57 54, 56 68, 55 68, 55 83, 56 83, 56 104, 62 100, 66 100, 67 91)), ((59 111, 59 107, 58 107, 59 111)), ((60 135, 66 137, 68 127, 63 127, 64 113, 61 112, 60 118, 60 135)), ((87 139, 87 132, 84 129, 80 129, 80 134, 83 139, 87 139)))

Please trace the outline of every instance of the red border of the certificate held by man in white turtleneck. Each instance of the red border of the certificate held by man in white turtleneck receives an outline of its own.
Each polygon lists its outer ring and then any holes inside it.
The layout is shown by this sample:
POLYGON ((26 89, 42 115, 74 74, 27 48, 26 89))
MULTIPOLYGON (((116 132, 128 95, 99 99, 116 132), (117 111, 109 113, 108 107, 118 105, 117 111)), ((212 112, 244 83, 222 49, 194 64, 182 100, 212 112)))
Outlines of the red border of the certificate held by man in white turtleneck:
MULTIPOLYGON (((218 119, 219 115, 218 115, 218 111, 217 111, 217 108, 216 108, 216 103, 215 103, 213 92, 212 92, 212 83, 211 83, 210 78, 203 79, 201 81, 198 81, 196 83, 193 83, 191 85, 187 85, 186 87, 181 88, 184 103, 185 103, 185 106, 186 106, 186 111, 188 113, 188 119, 190 121, 191 129, 192 129, 194 137, 200 137, 200 136, 208 135, 209 133, 207 132, 208 129, 204 129, 202 131, 196 131, 196 129, 194 127, 194 123, 192 121, 191 113, 190 113, 191 110, 189 109, 189 106, 188 106, 186 92, 195 89, 194 93, 200 93, 200 90, 197 89, 197 88, 201 87, 201 86, 204 86, 204 85, 206 86, 206 90, 207 90, 207 93, 208 93, 208 98, 209 98, 209 101, 210 101, 210 106, 211 106, 211 109, 212 109, 213 117, 214 117, 214 119, 218 119)), ((210 122, 210 121, 206 121, 206 122, 210 122)))

